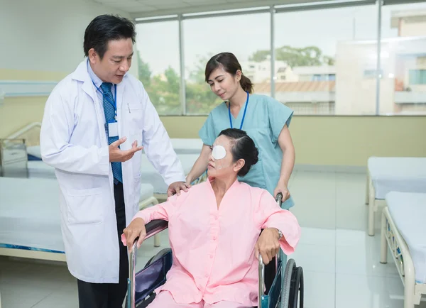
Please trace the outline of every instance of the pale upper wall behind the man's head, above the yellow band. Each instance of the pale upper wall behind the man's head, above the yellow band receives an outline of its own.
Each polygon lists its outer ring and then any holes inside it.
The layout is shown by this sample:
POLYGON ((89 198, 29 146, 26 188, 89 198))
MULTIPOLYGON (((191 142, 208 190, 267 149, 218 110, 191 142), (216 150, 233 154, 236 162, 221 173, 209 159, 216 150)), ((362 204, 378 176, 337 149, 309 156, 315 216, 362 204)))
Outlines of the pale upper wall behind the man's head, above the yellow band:
POLYGON ((130 17, 92 0, 0 0, 0 69, 72 72, 84 59, 85 28, 103 13, 130 17))

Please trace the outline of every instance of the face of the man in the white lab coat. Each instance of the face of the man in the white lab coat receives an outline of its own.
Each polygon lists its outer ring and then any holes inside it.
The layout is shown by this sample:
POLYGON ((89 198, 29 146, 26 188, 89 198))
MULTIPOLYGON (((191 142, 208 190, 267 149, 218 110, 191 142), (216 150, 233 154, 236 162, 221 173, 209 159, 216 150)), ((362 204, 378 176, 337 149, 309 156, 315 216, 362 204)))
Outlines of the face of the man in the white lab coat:
POLYGON ((130 69, 132 57, 133 43, 131 38, 110 40, 102 59, 93 48, 89 50, 89 60, 93 72, 103 82, 112 82, 113 84, 119 84, 123 81, 124 75, 130 69))

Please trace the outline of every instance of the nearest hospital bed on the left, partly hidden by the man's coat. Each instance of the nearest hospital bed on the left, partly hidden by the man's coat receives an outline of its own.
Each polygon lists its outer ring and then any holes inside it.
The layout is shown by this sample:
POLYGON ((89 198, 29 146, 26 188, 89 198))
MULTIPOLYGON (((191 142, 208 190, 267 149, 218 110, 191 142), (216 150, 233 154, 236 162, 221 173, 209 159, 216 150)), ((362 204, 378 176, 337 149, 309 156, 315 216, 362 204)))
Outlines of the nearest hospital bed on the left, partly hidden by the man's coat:
MULTIPOLYGON (((0 177, 0 255, 65 261, 58 201, 56 180, 0 177)), ((142 185, 139 208, 157 203, 142 185)))

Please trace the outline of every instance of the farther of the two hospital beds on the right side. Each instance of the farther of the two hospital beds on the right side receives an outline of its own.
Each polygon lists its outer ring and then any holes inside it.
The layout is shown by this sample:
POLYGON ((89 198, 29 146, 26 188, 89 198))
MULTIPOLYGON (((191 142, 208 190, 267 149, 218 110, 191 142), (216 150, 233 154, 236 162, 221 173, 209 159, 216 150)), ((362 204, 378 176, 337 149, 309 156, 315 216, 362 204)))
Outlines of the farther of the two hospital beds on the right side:
POLYGON ((368 158, 366 204, 368 235, 374 235, 374 213, 388 192, 426 192, 426 158, 368 158))

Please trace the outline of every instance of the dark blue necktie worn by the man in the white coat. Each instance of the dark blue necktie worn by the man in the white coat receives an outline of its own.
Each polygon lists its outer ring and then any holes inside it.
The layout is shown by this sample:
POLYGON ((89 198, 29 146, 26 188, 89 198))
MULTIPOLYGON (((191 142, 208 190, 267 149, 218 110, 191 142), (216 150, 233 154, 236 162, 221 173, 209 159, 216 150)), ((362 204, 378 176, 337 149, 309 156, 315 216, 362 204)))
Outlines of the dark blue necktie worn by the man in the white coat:
MULTIPOLYGON (((104 113, 105 120, 107 121, 107 127, 109 122, 115 121, 115 107, 112 104, 114 102, 114 97, 111 92, 111 82, 104 82, 101 84, 101 89, 103 93, 103 103, 104 103, 104 113)), ((114 141, 119 140, 119 136, 108 137, 108 144, 113 143, 114 141)), ((121 173, 121 163, 120 162, 112 162, 112 175, 114 176, 114 183, 123 182, 123 176, 121 173)))

